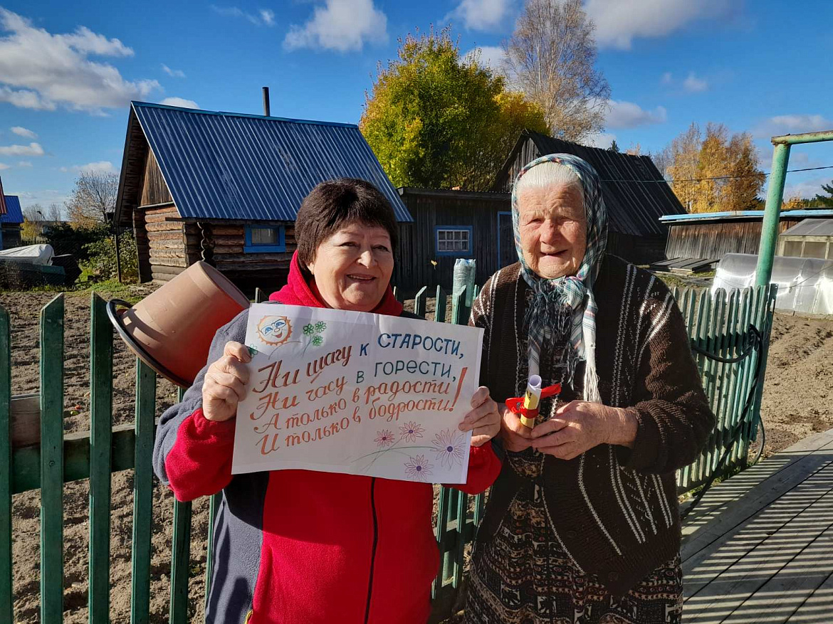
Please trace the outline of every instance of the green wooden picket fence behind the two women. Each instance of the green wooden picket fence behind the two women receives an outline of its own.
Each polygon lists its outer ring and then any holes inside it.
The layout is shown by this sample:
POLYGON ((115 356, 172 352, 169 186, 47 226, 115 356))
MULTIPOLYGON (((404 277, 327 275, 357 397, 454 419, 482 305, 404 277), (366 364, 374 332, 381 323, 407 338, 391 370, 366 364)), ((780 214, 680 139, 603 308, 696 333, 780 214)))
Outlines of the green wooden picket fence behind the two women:
MULTIPOLYGON (((429 296, 434 301, 434 319, 446 320, 447 297, 440 288, 416 295, 414 310, 425 315, 429 296)), ((718 425, 709 444, 691 466, 678 473, 681 492, 696 488, 716 467, 727 433, 741 417, 746 396, 755 394, 753 417, 732 449, 730 468, 742 465, 756 431, 761 400, 762 373, 756 378, 756 359, 766 362, 771 331, 775 287, 733 292, 689 290, 675 293, 694 344, 711 353, 731 356, 739 352, 755 325, 764 336, 762 349, 737 364, 716 364, 698 356, 703 382, 718 425)), ((0 308, 0 622, 13 622, 12 594, 12 494, 41 490, 41 621, 56 624, 63 616, 63 483, 88 478, 89 483, 89 622, 108 622, 110 611, 110 475, 134 470, 132 527, 131 621, 150 620, 152 447, 156 418, 156 374, 137 360, 136 412, 132 425, 112 426, 113 334, 105 302, 92 295, 91 302, 91 400, 90 430, 64 434, 63 414, 63 295, 41 310, 40 440, 12 447, 11 327, 6 310, 0 308)), ((451 322, 468 318, 465 292, 451 301, 451 322)), ((212 497, 210 517, 217 508, 212 497)), ((464 552, 476 533, 484 497, 469 497, 451 488, 441 488, 436 521, 436 539, 441 569, 433 588, 433 620, 446 617, 459 597, 464 552)), ((188 577, 191 558, 191 503, 174 503, 169 622, 187 622, 188 577)), ((209 522, 211 527, 212 522, 209 522)), ((210 578, 212 532, 206 536, 207 574, 210 578)))

